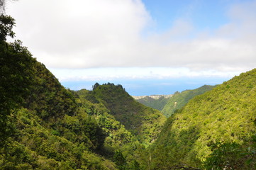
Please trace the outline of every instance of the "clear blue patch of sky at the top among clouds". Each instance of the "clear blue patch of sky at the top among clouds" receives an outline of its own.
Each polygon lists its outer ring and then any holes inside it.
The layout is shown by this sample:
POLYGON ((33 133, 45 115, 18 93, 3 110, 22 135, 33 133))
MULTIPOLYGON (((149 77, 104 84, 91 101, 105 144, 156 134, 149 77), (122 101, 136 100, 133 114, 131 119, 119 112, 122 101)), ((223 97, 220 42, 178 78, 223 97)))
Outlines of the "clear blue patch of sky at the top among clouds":
POLYGON ((145 7, 156 22, 156 30, 165 31, 173 21, 184 18, 196 26, 197 30, 216 29, 228 23, 226 8, 230 1, 153 1, 144 0, 145 7))

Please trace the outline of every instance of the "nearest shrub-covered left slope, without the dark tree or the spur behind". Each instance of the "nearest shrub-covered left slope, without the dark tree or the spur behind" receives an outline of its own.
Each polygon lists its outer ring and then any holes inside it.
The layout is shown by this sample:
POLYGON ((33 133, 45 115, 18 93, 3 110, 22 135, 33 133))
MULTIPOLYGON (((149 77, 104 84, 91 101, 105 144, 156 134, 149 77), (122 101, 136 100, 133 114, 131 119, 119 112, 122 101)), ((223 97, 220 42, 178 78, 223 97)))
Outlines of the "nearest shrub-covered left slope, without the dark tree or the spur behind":
POLYGON ((13 133, 0 148, 1 169, 116 169, 98 154, 106 133, 97 120, 43 64, 30 69, 30 93, 9 116, 13 133))

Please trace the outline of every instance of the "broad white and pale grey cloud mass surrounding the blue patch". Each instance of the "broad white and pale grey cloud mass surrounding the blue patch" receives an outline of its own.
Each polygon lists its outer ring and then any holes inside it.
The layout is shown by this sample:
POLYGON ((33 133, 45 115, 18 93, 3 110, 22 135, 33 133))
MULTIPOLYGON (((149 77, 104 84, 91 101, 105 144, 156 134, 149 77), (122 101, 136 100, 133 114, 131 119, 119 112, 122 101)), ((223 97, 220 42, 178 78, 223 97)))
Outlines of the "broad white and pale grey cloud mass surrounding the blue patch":
POLYGON ((8 11, 16 18, 17 38, 48 67, 235 72, 256 65, 255 8, 256 1, 231 6, 230 23, 193 38, 193 23, 182 18, 166 33, 143 37, 152 18, 140 0, 23 0, 8 11))

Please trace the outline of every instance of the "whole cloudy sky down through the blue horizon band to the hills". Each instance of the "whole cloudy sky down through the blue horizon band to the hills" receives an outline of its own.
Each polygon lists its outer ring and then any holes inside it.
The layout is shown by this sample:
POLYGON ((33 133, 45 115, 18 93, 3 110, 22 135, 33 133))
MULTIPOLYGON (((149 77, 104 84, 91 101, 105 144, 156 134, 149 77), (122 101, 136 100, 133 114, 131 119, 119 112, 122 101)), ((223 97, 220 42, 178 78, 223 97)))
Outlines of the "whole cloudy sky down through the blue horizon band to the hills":
POLYGON ((173 94, 256 66, 255 0, 18 0, 16 39, 63 86, 173 94))

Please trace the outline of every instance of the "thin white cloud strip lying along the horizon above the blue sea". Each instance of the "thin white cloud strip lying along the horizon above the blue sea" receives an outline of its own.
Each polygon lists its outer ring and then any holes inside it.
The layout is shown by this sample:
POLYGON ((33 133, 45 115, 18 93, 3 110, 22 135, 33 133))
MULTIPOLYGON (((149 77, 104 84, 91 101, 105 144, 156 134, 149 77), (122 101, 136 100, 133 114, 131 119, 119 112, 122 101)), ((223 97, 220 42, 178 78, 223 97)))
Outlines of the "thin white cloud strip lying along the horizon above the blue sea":
POLYGON ((175 79, 181 77, 187 78, 206 78, 222 77, 230 79, 239 75, 241 70, 236 72, 226 70, 218 72, 213 69, 190 70, 187 68, 170 68, 170 67, 115 67, 115 68, 92 68, 92 69, 50 69, 55 76, 62 82, 66 81, 113 81, 116 79, 133 80, 133 79, 175 79))

